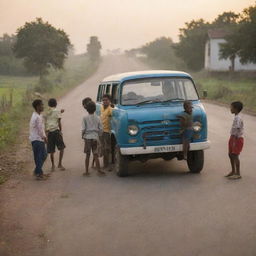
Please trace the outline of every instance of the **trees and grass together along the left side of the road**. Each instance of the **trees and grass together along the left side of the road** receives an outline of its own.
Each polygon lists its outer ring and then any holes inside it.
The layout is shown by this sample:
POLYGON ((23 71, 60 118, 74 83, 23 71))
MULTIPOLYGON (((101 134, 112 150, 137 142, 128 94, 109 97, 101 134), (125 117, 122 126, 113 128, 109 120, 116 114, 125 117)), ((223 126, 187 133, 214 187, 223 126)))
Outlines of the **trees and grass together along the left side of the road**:
POLYGON ((28 139, 21 135, 28 129, 33 99, 59 98, 82 83, 97 70, 100 49, 94 36, 87 53, 74 55, 66 33, 41 18, 26 23, 17 35, 0 37, 0 184, 15 165, 7 163, 5 154, 15 153, 14 146, 28 139))

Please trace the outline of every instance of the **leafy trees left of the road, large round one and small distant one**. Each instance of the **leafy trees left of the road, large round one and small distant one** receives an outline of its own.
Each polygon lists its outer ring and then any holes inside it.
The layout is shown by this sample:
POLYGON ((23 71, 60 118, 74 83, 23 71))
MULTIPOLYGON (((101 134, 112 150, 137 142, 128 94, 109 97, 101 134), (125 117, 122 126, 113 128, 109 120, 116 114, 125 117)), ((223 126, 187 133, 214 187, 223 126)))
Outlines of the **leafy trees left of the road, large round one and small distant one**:
MULTIPOLYGON (((91 37, 87 44, 91 61, 99 60, 100 49, 98 38, 91 37)), ((63 68, 69 54, 73 54, 73 46, 65 31, 37 18, 18 28, 16 35, 0 37, 0 74, 34 74, 42 82, 50 69, 63 68)))

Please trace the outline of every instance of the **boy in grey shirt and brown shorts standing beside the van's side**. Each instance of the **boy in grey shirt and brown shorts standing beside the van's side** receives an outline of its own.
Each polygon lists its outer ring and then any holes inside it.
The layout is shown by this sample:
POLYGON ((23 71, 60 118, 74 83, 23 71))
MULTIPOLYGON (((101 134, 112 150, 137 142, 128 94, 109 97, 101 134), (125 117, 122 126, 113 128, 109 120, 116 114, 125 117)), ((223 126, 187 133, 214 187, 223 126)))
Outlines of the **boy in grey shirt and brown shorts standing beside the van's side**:
POLYGON ((82 122, 82 138, 84 139, 84 153, 86 154, 85 159, 85 172, 83 175, 89 176, 89 161, 91 151, 93 153, 93 159, 96 163, 96 168, 99 175, 105 175, 105 172, 100 169, 99 162, 99 136, 102 133, 102 124, 98 116, 94 113, 96 111, 96 104, 93 101, 90 101, 86 110, 89 115, 83 118, 82 122))

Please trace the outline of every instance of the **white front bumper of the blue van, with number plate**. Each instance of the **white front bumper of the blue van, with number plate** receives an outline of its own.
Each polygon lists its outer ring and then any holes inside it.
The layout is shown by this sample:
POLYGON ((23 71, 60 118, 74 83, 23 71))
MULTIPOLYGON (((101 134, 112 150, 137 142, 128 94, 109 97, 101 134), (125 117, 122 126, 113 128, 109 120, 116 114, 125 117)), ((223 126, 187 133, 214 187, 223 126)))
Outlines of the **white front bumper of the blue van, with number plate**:
MULTIPOLYGON (((210 147, 210 141, 190 143, 190 151, 204 150, 210 147)), ((182 144, 177 145, 163 145, 163 146, 147 146, 143 147, 129 147, 120 148, 122 155, 141 155, 141 154, 157 154, 168 152, 181 152, 183 150, 182 144)))

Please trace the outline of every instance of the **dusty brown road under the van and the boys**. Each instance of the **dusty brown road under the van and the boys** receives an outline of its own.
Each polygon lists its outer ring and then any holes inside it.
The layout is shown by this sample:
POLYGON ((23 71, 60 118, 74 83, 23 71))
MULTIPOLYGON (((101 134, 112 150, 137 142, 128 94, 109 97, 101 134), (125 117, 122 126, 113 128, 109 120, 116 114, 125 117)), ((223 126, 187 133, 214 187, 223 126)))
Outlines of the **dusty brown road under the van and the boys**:
POLYGON ((244 115, 241 180, 223 177, 230 168, 226 144, 233 117, 211 104, 205 107, 212 144, 201 174, 188 174, 185 162, 154 160, 134 164, 138 172, 127 178, 82 177, 82 98, 95 98, 106 75, 144 68, 107 57, 60 101, 67 170, 46 182, 16 177, 0 190, 1 256, 256 255, 255 117, 244 115))

